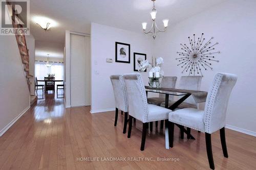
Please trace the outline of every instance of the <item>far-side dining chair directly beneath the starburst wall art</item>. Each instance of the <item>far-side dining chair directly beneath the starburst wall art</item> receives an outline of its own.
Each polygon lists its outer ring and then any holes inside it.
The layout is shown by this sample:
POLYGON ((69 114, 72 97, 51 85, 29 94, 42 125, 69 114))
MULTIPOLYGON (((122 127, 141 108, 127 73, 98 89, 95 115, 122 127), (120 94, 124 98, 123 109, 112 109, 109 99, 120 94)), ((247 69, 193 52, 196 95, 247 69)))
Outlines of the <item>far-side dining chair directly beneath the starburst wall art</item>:
MULTIPOLYGON (((202 76, 181 76, 179 89, 186 89, 186 90, 200 90, 202 76)), ((175 101, 169 101, 168 106, 172 106, 175 101)), ((161 106, 165 106, 165 102, 161 103, 161 106)), ((184 102, 182 102, 175 110, 183 109, 183 108, 198 108, 198 104, 193 99, 193 96, 189 96, 184 102)), ((187 139, 190 138, 190 129, 187 128, 188 134, 187 139)), ((184 138, 183 128, 180 130, 180 137, 181 139, 184 138)))

